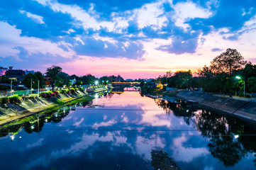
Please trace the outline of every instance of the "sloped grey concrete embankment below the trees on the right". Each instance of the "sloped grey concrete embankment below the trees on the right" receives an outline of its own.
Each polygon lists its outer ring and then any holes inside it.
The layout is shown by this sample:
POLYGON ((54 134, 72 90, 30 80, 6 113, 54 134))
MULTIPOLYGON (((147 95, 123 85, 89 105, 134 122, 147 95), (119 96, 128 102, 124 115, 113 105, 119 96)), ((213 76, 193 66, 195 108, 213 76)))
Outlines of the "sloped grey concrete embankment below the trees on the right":
POLYGON ((230 113, 244 120, 252 120, 256 122, 256 102, 242 101, 234 98, 224 98, 215 96, 214 94, 204 94, 197 91, 179 91, 179 98, 184 100, 196 101, 199 104, 230 113))

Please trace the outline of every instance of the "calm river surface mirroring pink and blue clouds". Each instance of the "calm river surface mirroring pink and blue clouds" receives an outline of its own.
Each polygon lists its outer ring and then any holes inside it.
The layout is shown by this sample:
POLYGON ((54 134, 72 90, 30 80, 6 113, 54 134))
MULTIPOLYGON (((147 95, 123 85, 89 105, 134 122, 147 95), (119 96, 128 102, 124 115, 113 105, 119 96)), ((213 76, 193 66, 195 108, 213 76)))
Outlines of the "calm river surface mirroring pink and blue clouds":
POLYGON ((0 169, 256 169, 254 128, 199 106, 125 91, 62 110, 2 130, 0 169))

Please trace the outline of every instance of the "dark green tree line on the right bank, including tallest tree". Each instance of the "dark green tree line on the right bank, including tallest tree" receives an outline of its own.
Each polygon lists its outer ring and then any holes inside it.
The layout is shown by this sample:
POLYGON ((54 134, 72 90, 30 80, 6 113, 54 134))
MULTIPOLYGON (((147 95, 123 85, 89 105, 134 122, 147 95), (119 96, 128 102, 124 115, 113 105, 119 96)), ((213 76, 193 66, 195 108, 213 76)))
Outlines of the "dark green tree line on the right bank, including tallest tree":
POLYGON ((256 92, 256 65, 245 61, 237 50, 228 48, 209 66, 205 65, 196 72, 167 72, 158 77, 157 82, 177 89, 202 89, 230 95, 238 91, 243 96, 244 87, 246 92, 256 92))

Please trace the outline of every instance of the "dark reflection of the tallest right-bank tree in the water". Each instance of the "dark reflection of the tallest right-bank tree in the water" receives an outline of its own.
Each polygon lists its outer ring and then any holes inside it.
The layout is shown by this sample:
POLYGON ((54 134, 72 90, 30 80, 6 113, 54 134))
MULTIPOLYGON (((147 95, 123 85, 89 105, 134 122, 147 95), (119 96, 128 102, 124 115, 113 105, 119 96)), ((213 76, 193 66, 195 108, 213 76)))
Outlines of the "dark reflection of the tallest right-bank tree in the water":
POLYGON ((209 151, 225 166, 234 166, 245 156, 243 145, 234 140, 234 134, 243 129, 242 124, 204 110, 196 114, 196 120, 201 134, 210 138, 209 151))

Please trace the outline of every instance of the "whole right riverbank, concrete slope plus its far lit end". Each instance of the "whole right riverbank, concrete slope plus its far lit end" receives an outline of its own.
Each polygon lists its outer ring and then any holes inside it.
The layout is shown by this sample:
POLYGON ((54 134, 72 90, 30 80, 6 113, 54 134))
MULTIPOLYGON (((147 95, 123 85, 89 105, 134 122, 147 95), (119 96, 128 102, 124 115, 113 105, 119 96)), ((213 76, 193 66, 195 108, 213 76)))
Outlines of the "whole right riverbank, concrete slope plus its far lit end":
POLYGON ((173 103, 177 101, 172 97, 177 96, 177 98, 184 101, 196 102, 201 106, 228 113, 241 120, 256 123, 256 102, 245 100, 244 98, 243 100, 238 98, 226 98, 199 91, 153 91, 151 95, 146 96, 173 103))

